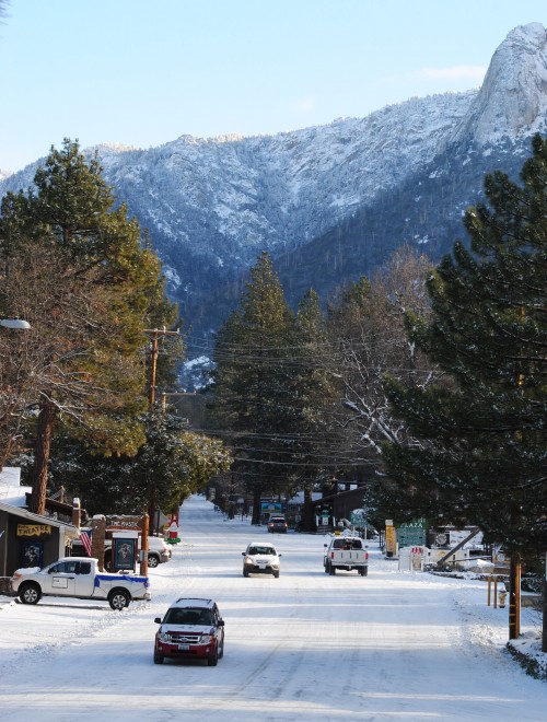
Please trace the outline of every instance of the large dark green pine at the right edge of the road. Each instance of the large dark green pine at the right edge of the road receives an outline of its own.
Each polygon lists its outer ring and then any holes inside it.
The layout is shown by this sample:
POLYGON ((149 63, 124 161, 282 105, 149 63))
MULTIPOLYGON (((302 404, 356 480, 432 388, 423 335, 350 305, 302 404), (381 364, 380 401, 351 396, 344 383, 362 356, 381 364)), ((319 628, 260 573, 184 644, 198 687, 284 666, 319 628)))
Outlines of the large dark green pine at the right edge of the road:
POLYGON ((445 372, 434 387, 387 393, 411 429, 384 456, 394 510, 479 526, 510 551, 547 548, 547 142, 533 140, 522 184, 486 176, 490 208, 465 214, 428 283, 433 317, 410 338, 445 372))

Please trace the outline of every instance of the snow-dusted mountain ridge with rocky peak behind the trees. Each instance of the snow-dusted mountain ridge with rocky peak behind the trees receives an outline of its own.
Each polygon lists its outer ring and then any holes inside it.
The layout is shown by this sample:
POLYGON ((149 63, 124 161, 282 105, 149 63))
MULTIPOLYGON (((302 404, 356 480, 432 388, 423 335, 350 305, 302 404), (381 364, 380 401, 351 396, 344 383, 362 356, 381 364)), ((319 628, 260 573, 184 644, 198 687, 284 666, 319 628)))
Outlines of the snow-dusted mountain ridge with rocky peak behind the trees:
MULTIPOLYGON (((411 98, 365 118, 260 137, 182 136, 149 150, 98 147, 104 175, 163 259, 193 333, 214 328, 263 249, 288 296, 323 298, 401 244, 433 259, 463 234, 485 173, 516 177, 547 129, 547 33, 500 45, 477 91, 411 98)), ((91 149, 93 150, 93 149, 91 149)), ((0 182, 31 184, 36 164, 0 182)))

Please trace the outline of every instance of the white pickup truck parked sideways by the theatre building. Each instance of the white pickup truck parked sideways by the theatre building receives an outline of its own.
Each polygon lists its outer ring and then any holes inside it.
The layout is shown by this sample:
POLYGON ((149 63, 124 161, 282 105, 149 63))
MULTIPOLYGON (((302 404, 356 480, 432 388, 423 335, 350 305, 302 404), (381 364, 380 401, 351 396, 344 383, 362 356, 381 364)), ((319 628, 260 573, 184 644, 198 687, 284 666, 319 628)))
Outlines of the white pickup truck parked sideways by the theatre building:
POLYGON ((18 569, 11 589, 23 604, 37 604, 43 596, 75 596, 107 599, 113 609, 124 609, 133 599, 150 599, 148 577, 108 574, 98 571, 98 560, 66 557, 44 569, 18 569))

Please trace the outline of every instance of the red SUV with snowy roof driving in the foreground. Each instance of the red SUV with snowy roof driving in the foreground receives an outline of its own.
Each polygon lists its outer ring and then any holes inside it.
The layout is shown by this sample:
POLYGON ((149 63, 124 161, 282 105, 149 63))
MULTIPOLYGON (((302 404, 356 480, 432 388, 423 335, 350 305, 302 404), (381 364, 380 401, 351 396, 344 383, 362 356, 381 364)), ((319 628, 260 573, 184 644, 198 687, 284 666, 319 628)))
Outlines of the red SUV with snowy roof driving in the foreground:
POLYGON ((154 664, 171 660, 207 660, 210 667, 224 655, 224 620, 212 599, 182 597, 174 602, 155 633, 154 664))

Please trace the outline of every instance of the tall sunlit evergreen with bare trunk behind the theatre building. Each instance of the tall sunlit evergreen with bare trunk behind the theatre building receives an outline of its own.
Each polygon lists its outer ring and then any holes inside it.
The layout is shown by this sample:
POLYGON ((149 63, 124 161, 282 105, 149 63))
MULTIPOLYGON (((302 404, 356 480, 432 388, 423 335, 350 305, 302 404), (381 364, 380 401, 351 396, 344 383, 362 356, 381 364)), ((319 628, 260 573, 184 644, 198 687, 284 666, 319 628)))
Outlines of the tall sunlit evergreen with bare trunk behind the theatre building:
POLYGON ((148 314, 160 308, 160 264, 115 206, 96 158, 86 162, 70 140, 51 149, 32 188, 2 199, 0 254, 1 292, 32 322, 39 354, 30 370, 38 410, 31 508, 43 513, 56 420, 104 454, 136 453, 144 441, 139 350, 148 314), (48 259, 42 272, 35 252, 48 259), (21 294, 27 268, 33 284, 21 294))

